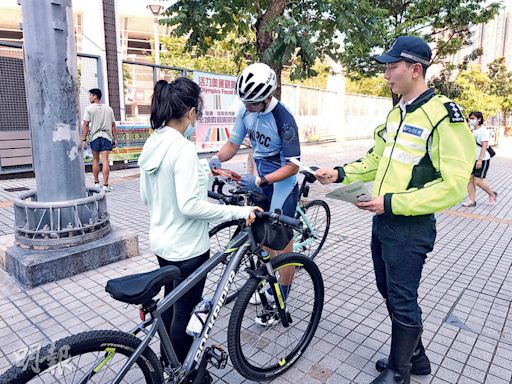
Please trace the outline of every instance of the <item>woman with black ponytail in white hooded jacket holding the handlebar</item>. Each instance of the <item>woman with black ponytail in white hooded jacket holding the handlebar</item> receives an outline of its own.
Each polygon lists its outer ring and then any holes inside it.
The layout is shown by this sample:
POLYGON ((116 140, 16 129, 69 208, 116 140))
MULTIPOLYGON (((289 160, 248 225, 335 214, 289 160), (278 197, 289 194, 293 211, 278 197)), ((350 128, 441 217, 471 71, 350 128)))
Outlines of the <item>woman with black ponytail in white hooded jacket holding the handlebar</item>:
MULTIPOLYGON (((219 205, 208 201, 209 166, 188 140, 201 118, 201 89, 180 77, 156 83, 151 101, 154 132, 142 149, 140 195, 149 208, 151 250, 161 267, 177 266, 180 280, 165 286, 165 295, 209 257, 209 221, 246 219, 251 224, 258 207, 219 205)), ((201 300, 206 278, 163 314, 178 359, 185 360, 193 338, 185 329, 194 306, 201 300)), ((165 354, 162 360, 168 363, 165 354)))

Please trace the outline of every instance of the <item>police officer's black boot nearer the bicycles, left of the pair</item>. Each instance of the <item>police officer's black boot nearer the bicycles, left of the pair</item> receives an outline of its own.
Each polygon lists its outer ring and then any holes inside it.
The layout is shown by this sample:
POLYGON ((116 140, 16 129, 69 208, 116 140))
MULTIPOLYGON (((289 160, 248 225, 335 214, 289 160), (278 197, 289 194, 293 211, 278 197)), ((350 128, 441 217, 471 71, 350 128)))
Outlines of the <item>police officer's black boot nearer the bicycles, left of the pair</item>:
POLYGON ((411 358, 421 336, 421 326, 409 326, 393 319, 391 352, 386 369, 371 384, 410 384, 411 358))

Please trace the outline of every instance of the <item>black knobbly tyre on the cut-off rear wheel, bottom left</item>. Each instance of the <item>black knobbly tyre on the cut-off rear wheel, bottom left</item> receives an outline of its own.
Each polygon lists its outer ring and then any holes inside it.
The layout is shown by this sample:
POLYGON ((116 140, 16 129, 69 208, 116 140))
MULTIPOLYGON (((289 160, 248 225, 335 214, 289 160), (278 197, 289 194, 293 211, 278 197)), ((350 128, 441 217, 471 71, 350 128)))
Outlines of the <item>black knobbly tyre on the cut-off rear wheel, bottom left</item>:
MULTIPOLYGON (((114 348, 115 354, 119 353, 128 358, 132 355, 133 351, 139 346, 140 343, 141 340, 138 339, 137 337, 120 331, 89 331, 79 333, 77 335, 61 339, 55 342, 54 345, 50 344, 42 348, 38 355, 40 358, 38 367, 40 372, 36 372, 34 369, 30 369, 30 367, 28 367, 27 369, 23 366, 13 366, 9 370, 7 370, 3 375, 0 376, 0 383, 25 384, 35 378, 36 380, 40 380, 38 382, 47 382, 41 378, 41 375, 43 375, 43 378, 45 377, 44 374, 48 374, 48 378, 52 378, 51 382, 55 383, 56 381, 53 380, 55 380, 56 377, 55 375, 51 374, 50 371, 58 366, 56 364, 57 361, 55 361, 55 351, 59 351, 61 350, 61 348, 66 348, 66 350, 68 351, 67 355, 64 356, 62 359, 62 361, 64 362, 63 366, 65 366, 66 361, 73 357, 79 356, 80 362, 82 356, 87 353, 108 353, 105 352, 106 348, 114 348)), ((102 366, 102 369, 110 361, 113 360, 114 356, 112 356, 111 360, 107 360, 105 365, 102 366)), ((98 360, 95 360, 93 364, 98 364, 97 361, 98 360)), ((67 363, 69 364, 71 362, 68 361, 67 363)), ((131 369, 133 369, 134 366, 137 366, 142 371, 146 383, 160 384, 163 382, 162 364, 158 360, 155 353, 149 347, 146 348, 142 355, 135 361, 131 369)), ((119 366, 119 369, 120 368, 121 366, 119 366)), ((62 369, 64 370, 65 367, 62 369)), ((89 370, 90 369, 91 368, 89 368, 89 370)), ((87 370, 87 372, 89 370, 87 370)), ((98 380, 100 380, 99 382, 101 382, 102 384, 105 383, 105 381, 103 380, 104 374, 105 371, 103 371, 102 376, 98 378, 98 380)), ((127 376, 129 375, 130 371, 128 371, 127 373, 127 376)), ((131 380, 130 377, 127 376, 125 376, 124 380, 131 380)), ((94 377, 89 378, 87 382, 89 382, 89 380, 91 379, 94 379, 94 377)), ((67 383, 67 379, 65 379, 64 382, 67 383)))

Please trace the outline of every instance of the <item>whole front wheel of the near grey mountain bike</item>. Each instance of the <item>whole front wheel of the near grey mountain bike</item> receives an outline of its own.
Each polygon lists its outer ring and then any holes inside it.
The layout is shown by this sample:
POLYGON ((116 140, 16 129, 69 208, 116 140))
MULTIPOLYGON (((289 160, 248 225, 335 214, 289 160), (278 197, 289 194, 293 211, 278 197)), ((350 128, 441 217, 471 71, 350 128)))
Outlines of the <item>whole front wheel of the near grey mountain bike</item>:
POLYGON ((283 327, 275 305, 250 303, 255 293, 262 294, 268 286, 265 279, 255 277, 240 291, 229 319, 228 349, 233 366, 254 381, 279 376, 302 355, 318 327, 324 303, 322 276, 310 258, 286 253, 270 262, 276 274, 283 268, 295 268, 285 298, 289 326, 283 327))

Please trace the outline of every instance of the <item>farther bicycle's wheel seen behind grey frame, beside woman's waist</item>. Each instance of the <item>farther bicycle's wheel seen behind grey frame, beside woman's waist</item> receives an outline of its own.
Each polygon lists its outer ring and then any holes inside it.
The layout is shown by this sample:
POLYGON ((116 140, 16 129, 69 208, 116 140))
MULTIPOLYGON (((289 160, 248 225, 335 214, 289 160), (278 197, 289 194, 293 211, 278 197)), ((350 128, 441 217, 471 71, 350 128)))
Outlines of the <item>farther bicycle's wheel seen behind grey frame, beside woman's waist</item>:
MULTIPOLYGON (((208 231, 208 235, 210 236, 210 254, 214 255, 218 251, 220 251, 223 247, 225 247, 229 240, 240 233, 242 229, 242 223, 240 220, 230 220, 224 223, 220 223, 215 227, 211 228, 208 231), (214 240, 218 238, 217 240, 214 240)), ((224 273, 224 269, 227 266, 230 258, 227 257, 226 260, 216 266, 213 270, 211 270, 207 277, 206 283, 203 290, 203 297, 211 297, 213 298, 213 294, 215 293, 215 289, 217 285, 220 283, 220 279, 224 273)), ((228 295, 226 296, 225 304, 231 303, 238 296, 238 292, 242 289, 242 286, 245 284, 247 280, 247 276, 243 276, 243 273, 237 273, 235 280, 231 284, 231 289, 229 290, 228 295)))

